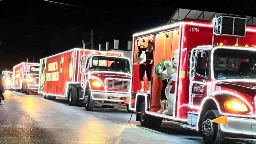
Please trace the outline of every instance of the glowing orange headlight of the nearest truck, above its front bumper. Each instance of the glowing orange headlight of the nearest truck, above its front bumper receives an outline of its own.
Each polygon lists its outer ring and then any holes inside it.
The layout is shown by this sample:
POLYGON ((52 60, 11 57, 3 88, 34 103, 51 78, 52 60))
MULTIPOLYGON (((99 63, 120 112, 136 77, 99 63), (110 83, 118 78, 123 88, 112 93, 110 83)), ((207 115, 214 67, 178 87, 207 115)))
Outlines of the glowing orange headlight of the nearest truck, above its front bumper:
POLYGON ((246 105, 240 102, 235 102, 235 101, 226 101, 224 103, 224 107, 225 109, 228 109, 228 110, 243 111, 243 112, 248 111, 246 105))

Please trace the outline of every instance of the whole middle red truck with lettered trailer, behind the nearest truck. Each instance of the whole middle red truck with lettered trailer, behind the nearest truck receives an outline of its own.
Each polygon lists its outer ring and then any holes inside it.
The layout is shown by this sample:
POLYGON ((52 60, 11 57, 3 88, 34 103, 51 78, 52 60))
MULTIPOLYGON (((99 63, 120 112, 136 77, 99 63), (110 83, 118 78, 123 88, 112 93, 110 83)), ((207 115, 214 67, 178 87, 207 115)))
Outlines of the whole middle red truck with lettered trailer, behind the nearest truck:
POLYGON ((130 67, 122 53, 71 49, 40 59, 39 93, 46 99, 68 98, 70 106, 84 102, 86 110, 93 110, 94 104, 126 106, 130 67))

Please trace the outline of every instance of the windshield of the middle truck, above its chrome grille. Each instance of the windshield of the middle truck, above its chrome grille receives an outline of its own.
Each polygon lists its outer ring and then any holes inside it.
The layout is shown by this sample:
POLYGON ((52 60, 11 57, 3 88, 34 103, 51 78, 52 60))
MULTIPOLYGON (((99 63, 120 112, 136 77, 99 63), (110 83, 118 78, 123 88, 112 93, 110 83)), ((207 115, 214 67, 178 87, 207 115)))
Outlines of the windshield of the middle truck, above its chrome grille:
POLYGON ((131 73, 129 60, 117 57, 94 56, 90 69, 93 71, 131 73))

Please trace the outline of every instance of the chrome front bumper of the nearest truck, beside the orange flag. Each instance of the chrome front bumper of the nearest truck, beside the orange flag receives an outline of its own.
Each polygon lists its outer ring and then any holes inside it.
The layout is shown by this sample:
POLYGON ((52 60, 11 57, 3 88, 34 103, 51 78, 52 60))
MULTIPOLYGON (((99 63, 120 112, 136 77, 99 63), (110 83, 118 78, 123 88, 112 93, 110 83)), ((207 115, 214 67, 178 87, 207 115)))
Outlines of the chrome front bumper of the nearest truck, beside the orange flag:
POLYGON ((229 133, 256 135, 256 120, 251 118, 227 117, 227 125, 221 130, 229 133))

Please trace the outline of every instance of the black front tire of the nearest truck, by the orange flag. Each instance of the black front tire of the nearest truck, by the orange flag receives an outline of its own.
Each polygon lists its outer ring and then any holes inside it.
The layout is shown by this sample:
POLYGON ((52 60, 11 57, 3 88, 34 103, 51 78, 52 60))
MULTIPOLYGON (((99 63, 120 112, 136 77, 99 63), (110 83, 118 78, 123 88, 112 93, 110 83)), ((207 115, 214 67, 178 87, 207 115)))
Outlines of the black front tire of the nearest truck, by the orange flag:
MULTIPOLYGON (((221 114, 219 113, 218 110, 208 110, 206 111, 202 124, 205 120, 213 120, 215 118, 221 117, 221 114)), ((206 144, 222 144, 226 133, 223 132, 220 128, 220 124, 217 124, 213 122, 213 128, 214 128, 214 133, 212 136, 206 136, 203 134, 203 140, 205 141, 206 144)))

